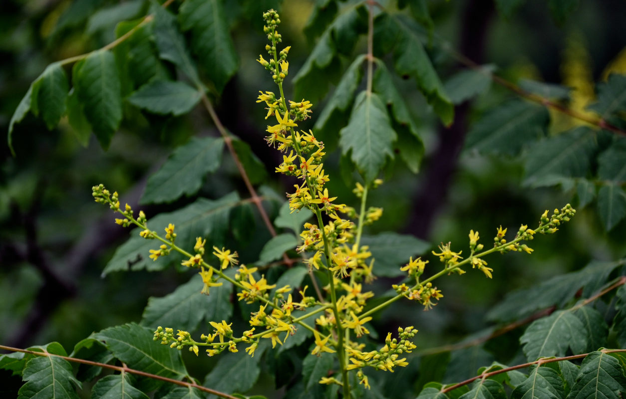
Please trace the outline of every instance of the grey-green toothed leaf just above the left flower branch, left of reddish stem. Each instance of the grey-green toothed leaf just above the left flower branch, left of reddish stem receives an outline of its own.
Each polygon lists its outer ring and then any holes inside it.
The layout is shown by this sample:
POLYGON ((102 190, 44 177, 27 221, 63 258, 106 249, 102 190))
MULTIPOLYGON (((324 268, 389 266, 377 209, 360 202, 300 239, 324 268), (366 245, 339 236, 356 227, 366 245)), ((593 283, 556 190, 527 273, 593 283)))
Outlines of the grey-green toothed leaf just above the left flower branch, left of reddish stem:
POLYGON ((172 202, 183 194, 198 192, 207 173, 222 163, 222 138, 193 137, 189 143, 174 150, 146 183, 141 204, 172 202))

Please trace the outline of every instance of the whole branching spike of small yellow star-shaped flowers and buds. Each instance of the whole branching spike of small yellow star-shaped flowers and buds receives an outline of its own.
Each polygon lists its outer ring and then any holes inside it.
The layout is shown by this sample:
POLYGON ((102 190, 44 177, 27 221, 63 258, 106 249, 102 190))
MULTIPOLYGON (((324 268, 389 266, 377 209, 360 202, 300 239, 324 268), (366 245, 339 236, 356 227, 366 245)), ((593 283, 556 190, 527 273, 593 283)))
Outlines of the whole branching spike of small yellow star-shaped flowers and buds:
MULTIPOLYGON (((239 265, 239 256, 236 251, 227 248, 213 246, 212 255, 217 258, 217 265, 207 263, 205 259, 205 245, 207 238, 197 237, 195 243, 184 243, 191 246, 193 251, 186 251, 177 245, 175 225, 169 223, 162 228, 165 235, 160 236, 157 231, 148 228, 148 221, 140 211, 135 218, 131 206, 120 206, 118 193, 110 193, 102 184, 93 187, 93 196, 96 202, 107 204, 111 210, 121 214, 115 223, 127 227, 136 225, 140 227, 140 236, 146 240, 156 240, 158 248, 150 250, 150 258, 158 260, 161 256, 167 256, 171 251, 177 251, 185 256, 183 266, 196 268, 202 278, 202 293, 209 295, 210 289, 223 285, 226 280, 237 287, 237 299, 245 303, 259 305, 258 311, 250 314, 248 323, 250 329, 243 331, 241 335, 232 330, 232 323, 226 320, 210 321, 213 330, 208 334, 202 334, 200 341, 193 340, 188 331, 178 330, 175 334, 171 327, 159 326, 154 331, 154 340, 163 345, 181 350, 185 346, 188 350, 198 355, 200 346, 207 347, 208 356, 215 356, 223 351, 237 352, 238 344, 247 345, 245 352, 250 356, 255 355, 259 347, 260 338, 271 340, 272 348, 282 346, 290 336, 297 333, 299 328, 305 328, 312 332, 311 352, 312 355, 320 356, 322 353, 334 353, 339 360, 338 370, 329 370, 329 375, 321 378, 319 383, 337 384, 342 386, 344 398, 351 396, 349 372, 356 370, 356 380, 359 384, 369 388, 367 376, 362 368, 372 367, 377 370, 394 371, 398 366, 406 366, 404 353, 411 353, 416 348, 413 342, 418 330, 413 326, 398 328, 394 337, 387 333, 384 346, 379 350, 365 351, 366 345, 361 340, 351 339, 351 335, 362 338, 369 335, 368 322, 372 315, 394 301, 401 298, 416 301, 424 306, 424 310, 431 309, 443 293, 433 281, 444 275, 466 273, 464 266, 477 269, 491 278, 493 268, 488 267, 483 259, 485 255, 494 252, 506 253, 518 251, 531 253, 533 250, 522 241, 533 240, 536 233, 555 233, 558 227, 572 218, 576 213, 569 204, 561 210, 555 210, 548 216, 545 211, 540 217, 540 223, 535 229, 522 225, 515 238, 508 241, 506 238, 507 228, 500 226, 496 229, 493 239, 493 248, 485 250, 480 241, 478 231, 469 231, 469 251, 463 254, 458 246, 452 243, 441 243, 437 250, 432 251, 436 258, 423 259, 421 256, 408 259, 406 265, 400 270, 406 272, 406 279, 393 289, 398 295, 364 311, 367 301, 374 297, 374 293, 367 291, 364 284, 374 280, 374 260, 372 253, 365 245, 361 245, 361 233, 363 226, 371 225, 382 217, 382 208, 366 207, 369 190, 376 189, 382 184, 381 179, 375 179, 372 183, 356 183, 352 191, 361 201, 357 211, 354 208, 341 204, 326 186, 330 181, 324 171, 322 162, 326 153, 324 143, 319 141, 311 131, 305 132, 298 129, 298 124, 312 115, 312 104, 305 100, 290 101, 285 98, 282 84, 289 75, 290 46, 278 49, 282 43, 282 36, 277 27, 280 24, 279 14, 269 10, 263 14, 265 20, 264 33, 270 43, 265 46, 267 60, 262 54, 259 55, 259 63, 269 72, 275 84, 277 84, 280 96, 272 91, 260 91, 257 103, 265 104, 269 119, 266 125, 267 136, 265 141, 270 146, 282 152, 282 163, 275 167, 276 173, 282 173, 297 179, 292 192, 287 193, 291 212, 310 211, 316 216, 316 222, 304 223, 300 233, 301 243, 295 248, 303 254, 303 262, 309 270, 319 270, 327 275, 327 285, 317 294, 318 298, 306 295, 307 286, 297 293, 290 285, 277 287, 259 272, 257 267, 239 265), (326 222, 322 220, 322 213, 326 222), (356 220, 352 221, 352 220, 356 220), (436 260, 441 266, 436 266, 436 260), (237 266, 234 278, 225 275, 222 270, 237 266), (424 275, 429 275, 424 278, 424 275), (316 306, 313 310, 309 310, 316 306), (308 310, 308 311, 307 311, 308 310), (300 313, 304 312, 304 314, 300 313), (315 328, 303 323, 302 320, 316 316, 315 328), (334 376, 331 376, 335 374, 334 376)), ((207 256, 206 258, 210 258, 207 256)), ((312 278, 316 278, 311 275, 312 278)), ((316 283, 316 280, 314 280, 316 283)), ((316 286, 317 289, 317 286, 316 286)))

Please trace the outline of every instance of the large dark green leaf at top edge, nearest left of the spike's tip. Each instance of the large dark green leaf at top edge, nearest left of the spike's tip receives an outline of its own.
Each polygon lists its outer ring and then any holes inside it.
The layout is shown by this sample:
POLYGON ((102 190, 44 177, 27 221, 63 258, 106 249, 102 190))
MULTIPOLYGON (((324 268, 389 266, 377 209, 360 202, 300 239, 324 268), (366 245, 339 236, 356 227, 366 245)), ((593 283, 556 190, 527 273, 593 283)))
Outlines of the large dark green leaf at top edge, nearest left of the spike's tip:
POLYGON ((239 68, 222 1, 185 1, 180 6, 178 19, 183 31, 191 31, 192 51, 220 93, 239 68))

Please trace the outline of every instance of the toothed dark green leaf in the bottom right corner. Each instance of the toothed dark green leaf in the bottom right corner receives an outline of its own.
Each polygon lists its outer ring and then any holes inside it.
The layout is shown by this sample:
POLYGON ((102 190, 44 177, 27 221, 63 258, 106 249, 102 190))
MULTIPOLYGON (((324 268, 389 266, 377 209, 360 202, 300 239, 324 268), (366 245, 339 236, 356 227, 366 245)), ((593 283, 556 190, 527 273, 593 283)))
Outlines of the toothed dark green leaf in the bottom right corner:
POLYGON ((626 392, 626 378, 617 359, 600 351, 592 352, 580 365, 568 399, 619 399, 626 392))

